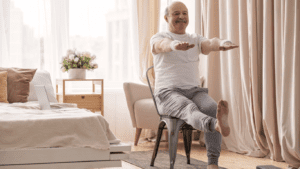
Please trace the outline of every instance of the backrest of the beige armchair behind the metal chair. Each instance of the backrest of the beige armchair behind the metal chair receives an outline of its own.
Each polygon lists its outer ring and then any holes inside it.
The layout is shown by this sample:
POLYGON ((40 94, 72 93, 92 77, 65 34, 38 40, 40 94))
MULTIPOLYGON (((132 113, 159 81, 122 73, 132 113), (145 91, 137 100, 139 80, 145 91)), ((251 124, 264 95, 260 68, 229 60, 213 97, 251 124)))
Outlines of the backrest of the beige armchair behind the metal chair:
POLYGON ((146 85, 125 82, 123 89, 126 96, 127 106, 130 112, 132 126, 136 127, 136 118, 134 113, 134 103, 141 99, 152 98, 150 89, 146 85))

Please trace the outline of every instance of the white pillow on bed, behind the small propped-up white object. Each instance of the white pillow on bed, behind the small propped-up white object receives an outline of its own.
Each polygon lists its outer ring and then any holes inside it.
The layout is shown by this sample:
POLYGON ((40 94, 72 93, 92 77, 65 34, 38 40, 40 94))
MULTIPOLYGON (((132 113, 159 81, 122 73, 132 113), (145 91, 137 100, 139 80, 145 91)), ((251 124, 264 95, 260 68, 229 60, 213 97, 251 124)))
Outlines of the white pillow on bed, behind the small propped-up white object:
POLYGON ((45 85, 49 101, 57 103, 49 72, 45 70, 37 70, 29 85, 30 89, 28 101, 38 101, 37 96, 35 94, 34 85, 45 85))

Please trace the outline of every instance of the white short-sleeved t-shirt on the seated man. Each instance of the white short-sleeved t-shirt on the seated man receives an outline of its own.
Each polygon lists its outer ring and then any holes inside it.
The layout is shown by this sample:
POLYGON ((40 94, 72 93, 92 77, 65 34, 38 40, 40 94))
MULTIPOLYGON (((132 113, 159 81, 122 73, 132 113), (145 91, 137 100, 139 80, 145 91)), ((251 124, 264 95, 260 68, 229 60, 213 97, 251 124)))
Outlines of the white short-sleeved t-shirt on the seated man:
POLYGON ((195 47, 187 51, 171 51, 153 54, 155 71, 155 90, 161 88, 189 89, 200 84, 199 54, 201 53, 201 42, 205 40, 201 35, 175 34, 172 32, 160 32, 152 36, 150 40, 151 52, 153 45, 163 38, 179 40, 195 44, 195 47))

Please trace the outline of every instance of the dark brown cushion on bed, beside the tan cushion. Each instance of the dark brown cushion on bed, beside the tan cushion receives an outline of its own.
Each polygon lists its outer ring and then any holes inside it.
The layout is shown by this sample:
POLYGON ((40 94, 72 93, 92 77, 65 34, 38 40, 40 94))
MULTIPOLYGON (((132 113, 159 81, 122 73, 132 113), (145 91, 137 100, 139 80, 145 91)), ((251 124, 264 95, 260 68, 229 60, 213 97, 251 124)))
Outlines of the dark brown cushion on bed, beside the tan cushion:
POLYGON ((29 83, 36 69, 0 68, 0 72, 7 71, 7 101, 27 102, 29 96, 29 83))

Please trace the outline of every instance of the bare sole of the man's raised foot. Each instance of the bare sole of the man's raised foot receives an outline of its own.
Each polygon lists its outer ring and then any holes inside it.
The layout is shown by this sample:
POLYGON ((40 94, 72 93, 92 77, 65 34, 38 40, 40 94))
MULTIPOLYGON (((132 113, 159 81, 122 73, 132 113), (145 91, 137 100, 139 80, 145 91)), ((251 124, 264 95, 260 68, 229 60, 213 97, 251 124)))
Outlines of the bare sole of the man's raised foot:
POLYGON ((230 134, 228 125, 228 103, 225 100, 220 100, 217 109, 217 124, 216 131, 227 137, 230 134))

